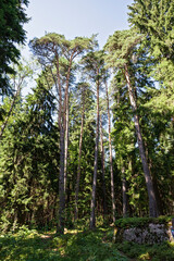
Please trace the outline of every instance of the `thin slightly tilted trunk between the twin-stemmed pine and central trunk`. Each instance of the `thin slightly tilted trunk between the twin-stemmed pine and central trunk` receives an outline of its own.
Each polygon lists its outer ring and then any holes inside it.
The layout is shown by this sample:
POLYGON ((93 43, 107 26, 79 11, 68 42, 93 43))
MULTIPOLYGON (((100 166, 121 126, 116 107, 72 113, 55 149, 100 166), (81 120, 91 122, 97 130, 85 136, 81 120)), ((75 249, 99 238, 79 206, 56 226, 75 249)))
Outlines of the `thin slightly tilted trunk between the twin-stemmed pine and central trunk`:
POLYGON ((78 191, 79 191, 79 179, 80 179, 80 159, 82 159, 82 147, 83 147, 84 114, 85 114, 85 90, 83 89, 83 112, 82 112, 82 121, 80 121, 78 169, 77 169, 77 179, 76 179, 76 187, 75 187, 75 216, 74 216, 75 220, 78 219, 78 191))

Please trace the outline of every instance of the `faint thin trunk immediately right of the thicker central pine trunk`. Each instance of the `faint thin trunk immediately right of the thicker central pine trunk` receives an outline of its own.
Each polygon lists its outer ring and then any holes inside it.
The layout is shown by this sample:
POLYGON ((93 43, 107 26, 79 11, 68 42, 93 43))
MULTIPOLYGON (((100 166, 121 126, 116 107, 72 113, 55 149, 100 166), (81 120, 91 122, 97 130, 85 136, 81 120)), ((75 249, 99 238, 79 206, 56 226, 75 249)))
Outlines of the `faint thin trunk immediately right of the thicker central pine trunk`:
POLYGON ((103 148, 103 135, 102 123, 100 116, 100 140, 101 140, 101 167, 102 167, 102 191, 103 191, 103 219, 107 214, 107 194, 105 194, 105 167, 104 167, 104 148, 103 148))

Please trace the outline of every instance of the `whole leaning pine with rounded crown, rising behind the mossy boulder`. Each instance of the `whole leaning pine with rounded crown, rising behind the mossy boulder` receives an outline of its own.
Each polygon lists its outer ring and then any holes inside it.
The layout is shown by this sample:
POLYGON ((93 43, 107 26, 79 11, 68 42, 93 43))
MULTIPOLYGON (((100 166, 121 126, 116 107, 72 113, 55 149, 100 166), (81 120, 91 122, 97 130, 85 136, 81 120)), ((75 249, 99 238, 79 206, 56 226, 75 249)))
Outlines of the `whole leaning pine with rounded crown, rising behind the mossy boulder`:
POLYGON ((132 87, 130 76, 128 72, 128 64, 133 54, 133 49, 141 40, 141 38, 142 36, 137 35, 134 30, 115 32, 114 35, 109 38, 105 45, 105 49, 109 52, 107 57, 107 62, 109 66, 122 67, 127 82, 129 101, 130 101, 130 105, 134 113, 134 123, 135 123, 135 129, 137 135, 139 154, 142 162, 142 169, 145 173, 145 179, 146 179, 146 185, 147 185, 147 190, 149 196, 149 215, 158 216, 157 200, 156 200, 152 179, 150 176, 150 171, 149 171, 149 166, 148 166, 148 162, 145 153, 141 129, 139 125, 139 117, 137 113, 137 102, 135 98, 135 91, 134 91, 134 88, 132 87))

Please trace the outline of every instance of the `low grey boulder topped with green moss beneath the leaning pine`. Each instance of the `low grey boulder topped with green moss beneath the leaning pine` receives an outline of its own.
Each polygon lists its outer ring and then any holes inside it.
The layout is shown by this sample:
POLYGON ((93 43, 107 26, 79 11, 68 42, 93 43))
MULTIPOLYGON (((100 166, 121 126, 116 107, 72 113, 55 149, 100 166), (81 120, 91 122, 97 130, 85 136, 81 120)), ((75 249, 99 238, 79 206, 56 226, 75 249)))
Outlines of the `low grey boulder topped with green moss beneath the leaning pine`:
POLYGON ((171 226, 172 216, 152 217, 128 217, 115 222, 114 241, 124 240, 137 244, 161 244, 173 241, 171 226))

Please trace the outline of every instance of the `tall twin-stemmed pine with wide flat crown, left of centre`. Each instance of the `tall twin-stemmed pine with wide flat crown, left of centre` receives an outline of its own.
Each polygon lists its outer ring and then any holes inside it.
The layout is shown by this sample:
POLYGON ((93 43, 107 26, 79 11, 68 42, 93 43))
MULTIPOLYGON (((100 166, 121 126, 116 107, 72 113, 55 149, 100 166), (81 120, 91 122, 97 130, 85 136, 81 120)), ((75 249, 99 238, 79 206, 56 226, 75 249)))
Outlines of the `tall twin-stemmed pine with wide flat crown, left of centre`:
MULTIPOLYGON (((64 233, 65 186, 69 142, 69 88, 74 60, 92 48, 94 37, 76 37, 66 40, 58 34, 47 34, 30 41, 34 53, 52 77, 58 99, 58 122, 60 129, 60 175, 59 175, 59 224, 58 233, 64 233)), ((47 77, 47 76, 46 76, 47 77)), ((47 79, 49 85, 49 80, 47 79)))

